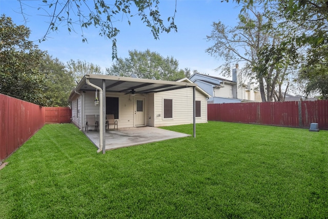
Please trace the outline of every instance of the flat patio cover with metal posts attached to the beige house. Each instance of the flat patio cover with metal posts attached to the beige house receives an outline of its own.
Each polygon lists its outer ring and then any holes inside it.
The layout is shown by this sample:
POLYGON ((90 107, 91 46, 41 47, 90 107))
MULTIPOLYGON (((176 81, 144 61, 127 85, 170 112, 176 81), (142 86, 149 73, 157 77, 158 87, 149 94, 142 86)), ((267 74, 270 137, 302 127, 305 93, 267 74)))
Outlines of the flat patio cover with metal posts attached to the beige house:
POLYGON ((134 77, 121 77, 121 76, 112 76, 112 75, 101 75, 101 74, 86 74, 81 81, 78 83, 76 88, 72 91, 69 101, 71 102, 73 97, 79 94, 80 91, 95 91, 99 90, 99 132, 100 132, 100 145, 99 150, 102 149, 105 153, 105 147, 102 147, 105 144, 105 115, 106 115, 106 92, 121 92, 126 93, 132 89, 137 93, 154 93, 169 91, 175 89, 182 89, 193 87, 193 123, 194 123, 194 134, 196 137, 196 120, 195 120, 195 88, 197 87, 194 83, 187 82, 172 82, 172 81, 161 81, 154 79, 142 79, 134 77), (103 95, 105 92, 105 95, 103 95), (105 104, 103 104, 105 103, 105 104), (103 144, 102 144, 103 143, 103 144))

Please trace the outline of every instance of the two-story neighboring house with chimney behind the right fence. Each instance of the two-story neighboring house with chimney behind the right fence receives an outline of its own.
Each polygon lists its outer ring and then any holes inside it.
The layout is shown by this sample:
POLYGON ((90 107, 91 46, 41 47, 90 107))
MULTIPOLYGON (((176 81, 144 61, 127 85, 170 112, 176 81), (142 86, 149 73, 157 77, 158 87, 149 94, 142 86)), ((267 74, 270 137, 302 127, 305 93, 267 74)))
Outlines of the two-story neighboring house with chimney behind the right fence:
POLYGON ((242 83, 237 69, 233 69, 232 81, 199 73, 193 74, 190 80, 212 96, 209 104, 261 102, 260 92, 250 82, 242 83))

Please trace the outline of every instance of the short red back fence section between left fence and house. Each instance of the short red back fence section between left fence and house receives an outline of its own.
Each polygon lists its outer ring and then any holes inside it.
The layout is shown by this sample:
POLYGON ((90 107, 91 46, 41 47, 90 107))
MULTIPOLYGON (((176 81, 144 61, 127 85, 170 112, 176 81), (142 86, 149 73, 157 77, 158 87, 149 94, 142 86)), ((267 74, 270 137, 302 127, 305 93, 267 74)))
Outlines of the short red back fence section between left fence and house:
POLYGON ((70 123, 72 110, 69 107, 46 107, 46 123, 70 123))

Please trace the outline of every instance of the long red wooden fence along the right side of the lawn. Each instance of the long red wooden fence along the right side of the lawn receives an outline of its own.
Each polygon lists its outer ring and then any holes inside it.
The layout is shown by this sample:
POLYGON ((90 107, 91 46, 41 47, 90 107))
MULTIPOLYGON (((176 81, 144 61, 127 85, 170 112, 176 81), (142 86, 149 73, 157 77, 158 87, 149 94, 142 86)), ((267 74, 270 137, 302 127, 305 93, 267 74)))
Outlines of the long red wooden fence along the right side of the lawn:
POLYGON ((328 100, 209 104, 208 120, 328 130, 328 100))

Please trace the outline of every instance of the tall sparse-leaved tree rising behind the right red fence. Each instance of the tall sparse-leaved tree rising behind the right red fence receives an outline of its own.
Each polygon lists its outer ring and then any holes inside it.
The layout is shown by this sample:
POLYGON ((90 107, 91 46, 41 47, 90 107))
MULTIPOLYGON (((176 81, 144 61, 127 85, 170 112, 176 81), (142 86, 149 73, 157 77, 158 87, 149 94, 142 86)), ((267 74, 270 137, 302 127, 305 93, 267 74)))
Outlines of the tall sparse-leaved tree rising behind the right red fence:
POLYGON ((281 45, 283 33, 274 26, 275 19, 266 17, 251 6, 239 14, 239 23, 230 28, 221 22, 213 23, 208 41, 214 45, 206 51, 226 62, 217 70, 230 71, 232 63, 245 62, 241 70, 259 84, 262 102, 282 99, 281 85, 288 74, 291 61, 296 59, 293 44, 281 45), (280 90, 277 92, 276 88, 280 90), (278 96, 278 98, 277 98, 278 96))

